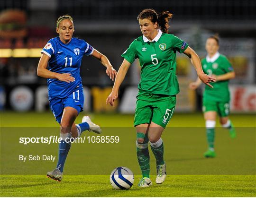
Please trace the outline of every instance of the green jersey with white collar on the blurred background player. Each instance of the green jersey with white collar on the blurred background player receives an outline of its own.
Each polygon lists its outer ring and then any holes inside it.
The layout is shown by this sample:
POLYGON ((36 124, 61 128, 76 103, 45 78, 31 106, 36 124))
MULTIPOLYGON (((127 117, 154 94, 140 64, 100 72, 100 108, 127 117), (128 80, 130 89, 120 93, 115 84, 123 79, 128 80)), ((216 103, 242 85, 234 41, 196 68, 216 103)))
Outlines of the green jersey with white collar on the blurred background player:
MULTIPOLYGON (((233 71, 229 60, 217 52, 212 58, 208 56, 201 60, 203 72, 211 76, 226 74, 233 71)), ((229 80, 222 80, 216 83, 211 83, 214 88, 205 86, 203 94, 204 101, 215 101, 215 102, 229 102, 229 80)))

